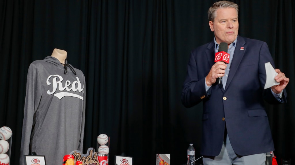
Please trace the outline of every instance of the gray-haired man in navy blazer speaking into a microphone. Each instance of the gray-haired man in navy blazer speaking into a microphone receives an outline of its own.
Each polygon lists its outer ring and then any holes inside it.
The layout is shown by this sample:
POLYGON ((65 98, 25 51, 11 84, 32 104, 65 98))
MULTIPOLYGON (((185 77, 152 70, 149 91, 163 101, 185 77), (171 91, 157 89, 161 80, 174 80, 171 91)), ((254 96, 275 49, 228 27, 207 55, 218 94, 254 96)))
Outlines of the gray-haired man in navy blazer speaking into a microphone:
POLYGON ((286 102, 289 78, 276 69, 279 85, 264 89, 265 63, 275 68, 274 62, 265 42, 238 36, 237 4, 216 2, 208 18, 214 40, 191 52, 181 96, 185 107, 203 102, 204 165, 265 164, 274 146, 263 100, 286 102), (228 45, 229 64, 214 63, 221 42, 228 45))

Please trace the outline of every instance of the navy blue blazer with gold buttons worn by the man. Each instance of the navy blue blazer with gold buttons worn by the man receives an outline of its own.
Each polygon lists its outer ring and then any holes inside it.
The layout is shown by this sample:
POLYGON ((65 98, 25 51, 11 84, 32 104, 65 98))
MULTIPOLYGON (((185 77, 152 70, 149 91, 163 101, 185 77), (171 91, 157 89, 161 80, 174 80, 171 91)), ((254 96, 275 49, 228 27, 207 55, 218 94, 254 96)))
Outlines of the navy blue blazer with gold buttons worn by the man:
MULTIPOLYGON (((217 156, 222 148, 224 129, 236 154, 245 156, 274 150, 264 101, 280 103, 264 90, 265 63, 274 62, 263 41, 238 36, 225 89, 213 84, 208 93, 205 77, 214 65, 214 41, 191 52, 181 100, 185 107, 203 102, 201 154, 217 156)), ((283 91, 286 100, 286 91, 283 91)))

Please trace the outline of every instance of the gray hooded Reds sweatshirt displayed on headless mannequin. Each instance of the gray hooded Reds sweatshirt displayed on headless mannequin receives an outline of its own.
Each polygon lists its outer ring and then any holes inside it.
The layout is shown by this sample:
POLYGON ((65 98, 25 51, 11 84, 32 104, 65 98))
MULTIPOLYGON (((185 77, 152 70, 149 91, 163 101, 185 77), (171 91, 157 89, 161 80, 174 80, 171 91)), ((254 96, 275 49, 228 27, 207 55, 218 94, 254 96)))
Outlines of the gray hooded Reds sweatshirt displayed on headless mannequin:
POLYGON ((24 155, 45 155, 47 165, 82 152, 85 121, 85 77, 70 64, 47 56, 30 64, 24 105, 20 164, 24 155), (76 73, 76 75, 75 75, 76 73))

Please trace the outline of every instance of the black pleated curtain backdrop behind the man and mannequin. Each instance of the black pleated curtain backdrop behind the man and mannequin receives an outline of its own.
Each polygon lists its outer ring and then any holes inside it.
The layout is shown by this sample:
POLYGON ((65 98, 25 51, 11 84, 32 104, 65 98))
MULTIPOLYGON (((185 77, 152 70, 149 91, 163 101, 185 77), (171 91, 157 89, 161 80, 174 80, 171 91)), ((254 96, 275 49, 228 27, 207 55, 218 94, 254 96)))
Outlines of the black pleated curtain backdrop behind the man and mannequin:
MULTIPOLYGON (((189 143, 198 158, 202 104, 186 109, 180 97, 190 51, 214 37, 207 18, 214 2, 0 0, 0 127, 13 131, 11 164, 19 164, 28 67, 54 48, 86 77, 83 153, 104 133, 109 164, 122 153, 134 164, 155 164, 157 153, 185 164, 189 143)), ((239 34, 265 41, 290 78, 287 103, 266 107, 278 164, 295 162, 295 1, 234 2, 239 34)))

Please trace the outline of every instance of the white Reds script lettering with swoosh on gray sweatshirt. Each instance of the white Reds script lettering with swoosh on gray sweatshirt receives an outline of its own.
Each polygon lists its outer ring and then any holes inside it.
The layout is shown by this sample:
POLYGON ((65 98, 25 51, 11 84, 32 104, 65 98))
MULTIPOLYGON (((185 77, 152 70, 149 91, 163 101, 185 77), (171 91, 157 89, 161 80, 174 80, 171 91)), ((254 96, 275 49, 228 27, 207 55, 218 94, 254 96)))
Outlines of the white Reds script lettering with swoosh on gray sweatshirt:
MULTIPOLYGON (((84 85, 83 85, 83 88, 81 88, 81 82, 79 80, 78 77, 76 77, 77 81, 74 81, 72 84, 69 80, 66 80, 65 81, 65 86, 63 86, 63 77, 61 77, 60 75, 50 75, 48 76, 47 80, 46 80, 46 83, 47 85, 51 85, 52 83, 52 86, 53 86, 53 89, 52 91, 50 92, 50 90, 47 90, 47 94, 48 95, 52 95, 53 93, 56 92, 57 88, 58 90, 60 91, 73 91, 73 92, 76 92, 78 90, 78 92, 82 92, 83 89, 84 89, 84 85), (53 77, 52 79, 50 79, 51 77, 53 77), (59 80, 57 80, 57 78, 59 78, 59 80), (52 82, 49 82, 49 80, 52 80, 52 82)), ((70 92, 60 92, 60 93, 55 93, 54 96, 58 97, 59 99, 61 99, 62 97, 64 96, 71 96, 71 97, 77 97, 81 100, 83 100, 83 97, 80 96, 80 95, 77 95, 77 94, 73 94, 73 93, 70 93, 70 92)))

